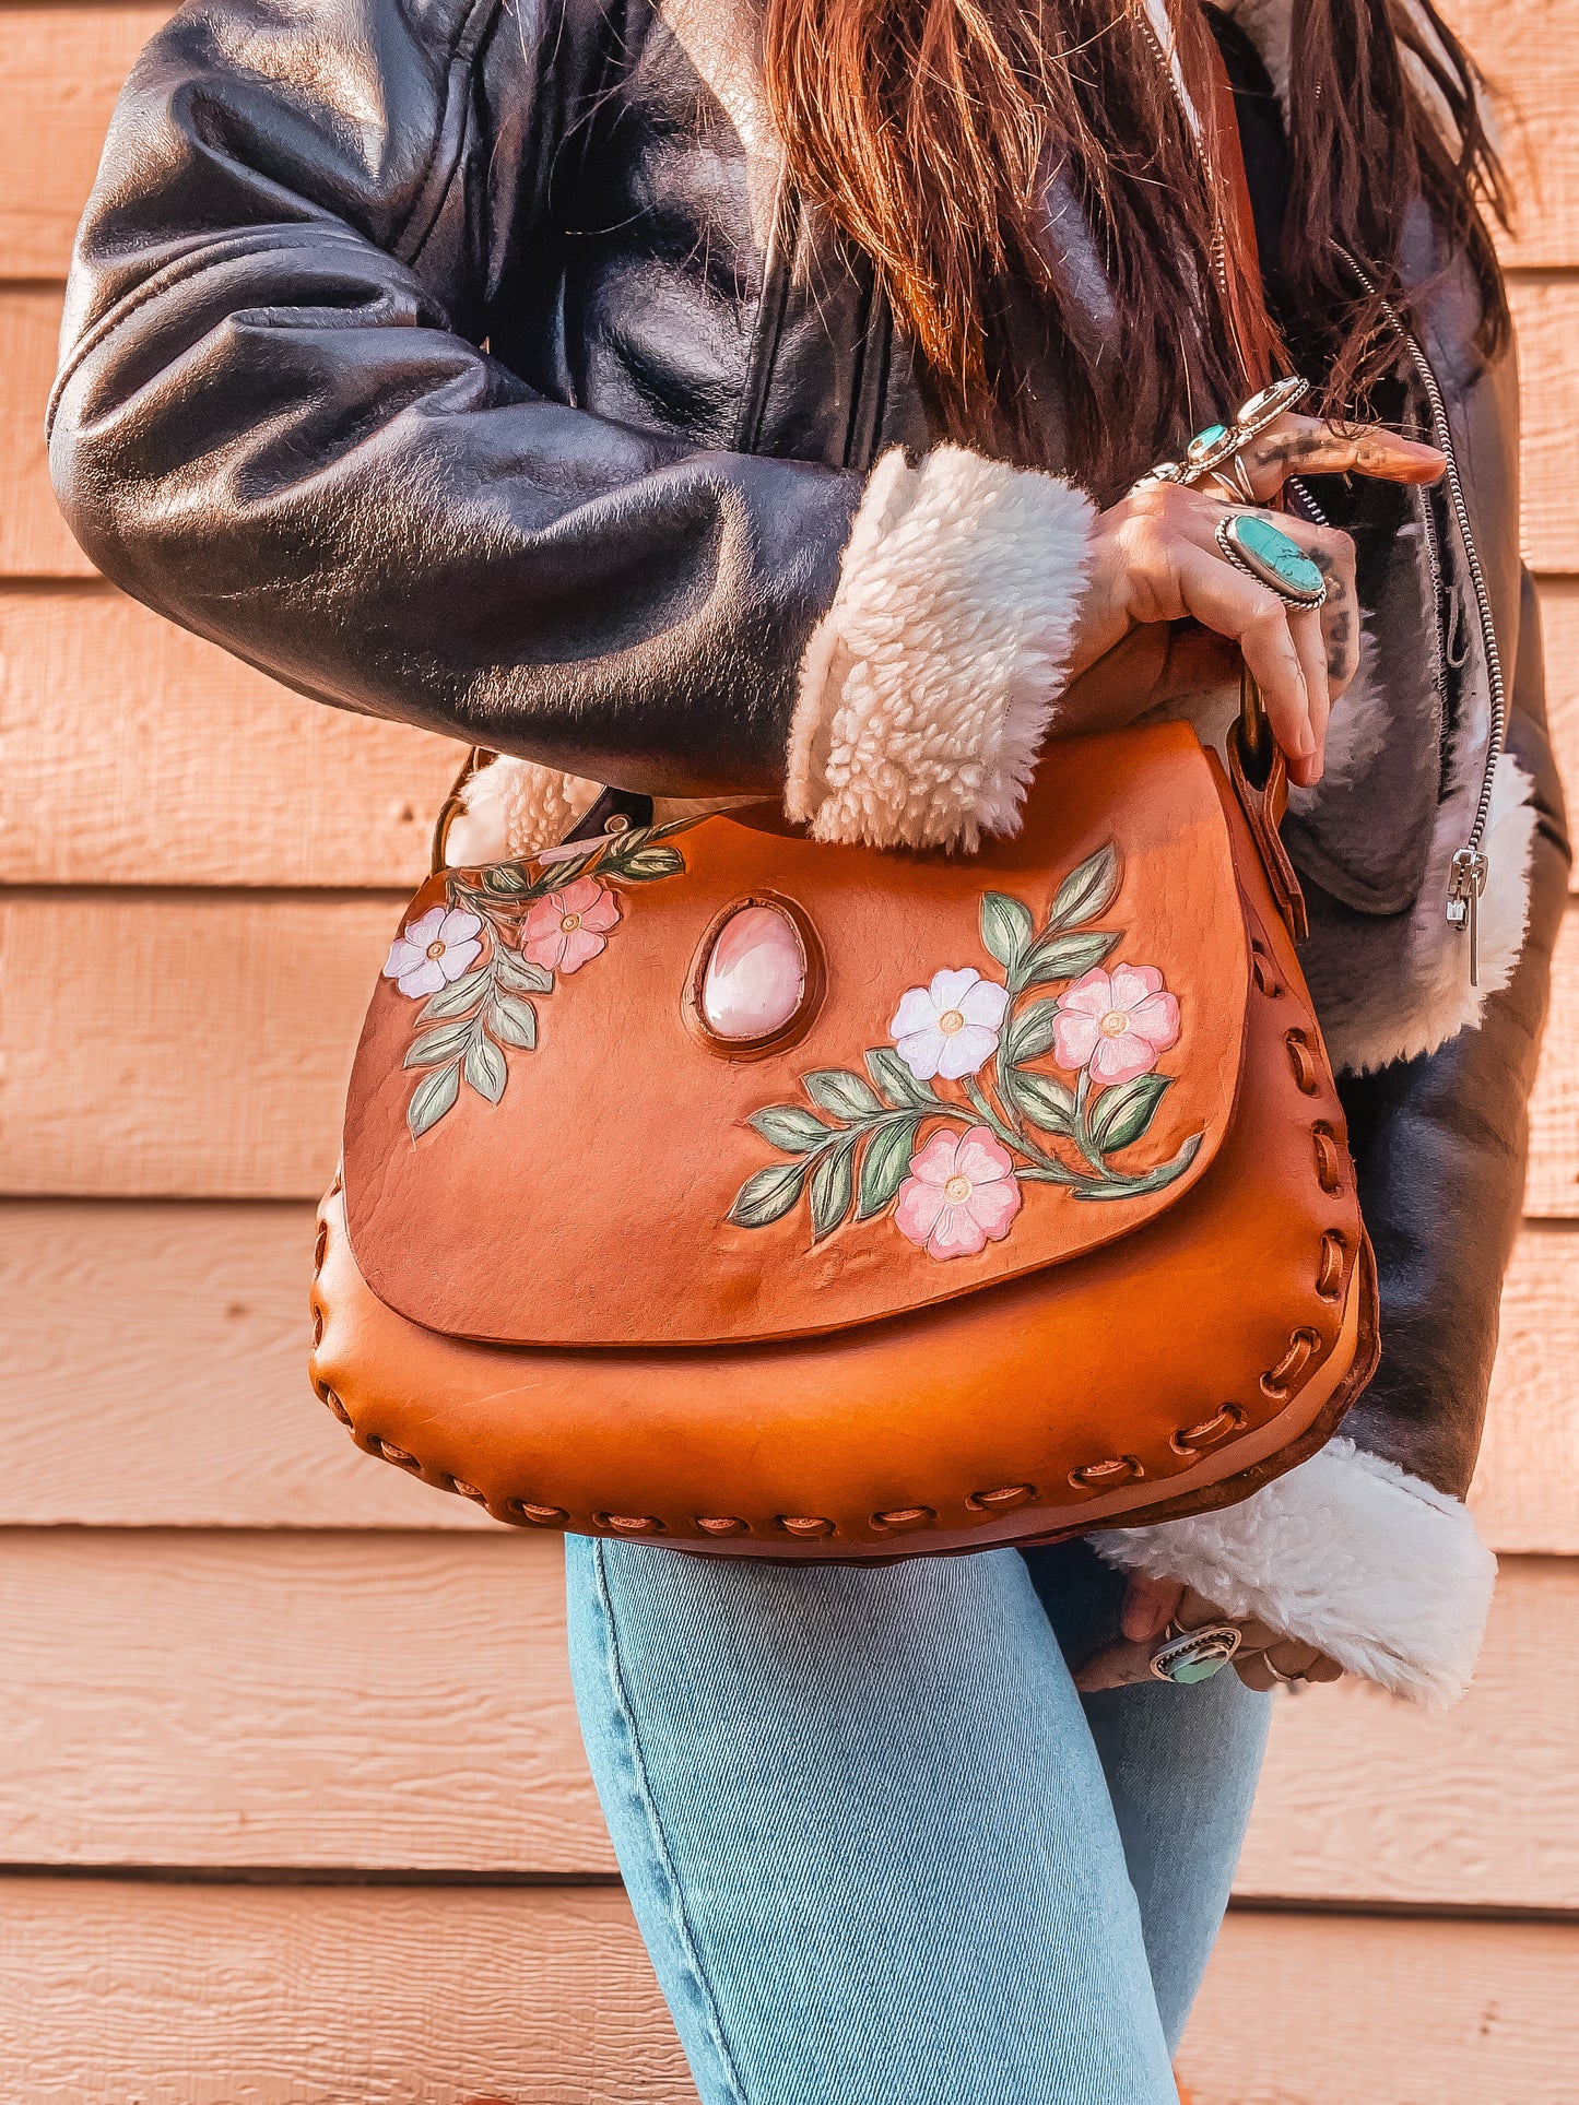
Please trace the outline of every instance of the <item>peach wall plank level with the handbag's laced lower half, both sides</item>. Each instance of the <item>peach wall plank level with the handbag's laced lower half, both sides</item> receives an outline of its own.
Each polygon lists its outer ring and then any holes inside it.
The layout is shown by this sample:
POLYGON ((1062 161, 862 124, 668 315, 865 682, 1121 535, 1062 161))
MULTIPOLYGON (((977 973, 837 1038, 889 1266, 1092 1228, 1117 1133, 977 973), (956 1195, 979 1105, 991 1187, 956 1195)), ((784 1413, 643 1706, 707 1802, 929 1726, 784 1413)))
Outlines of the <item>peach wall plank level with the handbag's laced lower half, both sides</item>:
MULTIPOLYGON (((360 1455, 303 1362, 305 1204, 8 1200, 0 1526, 469 1528, 360 1455)), ((1579 1236, 1531 1227, 1474 1505, 1493 1549, 1579 1556, 1579 1236)))

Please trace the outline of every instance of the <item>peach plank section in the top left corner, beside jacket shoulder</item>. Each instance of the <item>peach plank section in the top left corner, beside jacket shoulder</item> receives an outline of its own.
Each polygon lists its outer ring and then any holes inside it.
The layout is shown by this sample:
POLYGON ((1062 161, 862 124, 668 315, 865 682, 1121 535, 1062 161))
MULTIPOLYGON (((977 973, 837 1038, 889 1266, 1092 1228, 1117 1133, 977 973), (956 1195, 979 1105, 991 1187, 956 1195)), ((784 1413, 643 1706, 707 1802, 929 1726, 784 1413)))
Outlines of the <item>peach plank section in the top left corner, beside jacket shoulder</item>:
POLYGON ((133 59, 168 6, 0 11, 0 278, 63 278, 133 59))

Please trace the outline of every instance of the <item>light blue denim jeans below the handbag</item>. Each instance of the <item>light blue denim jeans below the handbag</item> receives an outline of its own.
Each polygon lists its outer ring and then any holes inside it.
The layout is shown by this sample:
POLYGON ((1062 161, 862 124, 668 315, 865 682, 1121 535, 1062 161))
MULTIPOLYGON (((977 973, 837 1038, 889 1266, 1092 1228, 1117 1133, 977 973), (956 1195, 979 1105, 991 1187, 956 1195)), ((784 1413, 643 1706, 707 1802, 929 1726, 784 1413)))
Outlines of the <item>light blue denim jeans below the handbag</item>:
POLYGON ((1076 1695, 1120 1596, 1084 1543, 571 1539, 581 1730, 705 2105, 1173 2105, 1270 1701, 1076 1695))

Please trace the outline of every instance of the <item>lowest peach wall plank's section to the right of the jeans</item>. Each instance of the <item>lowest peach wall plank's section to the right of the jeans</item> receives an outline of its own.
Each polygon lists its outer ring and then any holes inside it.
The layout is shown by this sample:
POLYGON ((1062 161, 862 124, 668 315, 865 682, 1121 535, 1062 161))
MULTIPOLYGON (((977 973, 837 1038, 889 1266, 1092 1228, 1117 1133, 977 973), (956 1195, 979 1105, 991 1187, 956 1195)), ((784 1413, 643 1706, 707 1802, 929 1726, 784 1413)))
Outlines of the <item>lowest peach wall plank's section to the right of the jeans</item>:
POLYGON ((1230 1913, 1194 2105, 1573 2105, 1579 1928, 1230 1913))

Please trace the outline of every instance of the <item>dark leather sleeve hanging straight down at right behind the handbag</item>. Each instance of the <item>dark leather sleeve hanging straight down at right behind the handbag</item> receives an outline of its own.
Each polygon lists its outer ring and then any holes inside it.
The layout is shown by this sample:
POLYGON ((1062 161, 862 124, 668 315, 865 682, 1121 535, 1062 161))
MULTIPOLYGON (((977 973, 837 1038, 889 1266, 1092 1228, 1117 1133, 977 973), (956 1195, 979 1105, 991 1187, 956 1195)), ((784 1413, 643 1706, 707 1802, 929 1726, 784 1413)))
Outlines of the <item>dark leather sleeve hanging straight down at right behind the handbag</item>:
POLYGON ((1381 1271, 1381 1368, 1343 1431, 1459 1499, 1480 1448, 1497 1303, 1524 1196, 1526 1101, 1566 901, 1562 785, 1528 575, 1507 745, 1535 783, 1539 810, 1518 970, 1486 1002, 1480 1029, 1341 1082, 1381 1271))

